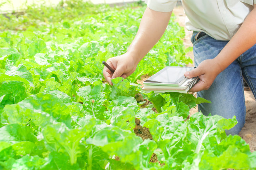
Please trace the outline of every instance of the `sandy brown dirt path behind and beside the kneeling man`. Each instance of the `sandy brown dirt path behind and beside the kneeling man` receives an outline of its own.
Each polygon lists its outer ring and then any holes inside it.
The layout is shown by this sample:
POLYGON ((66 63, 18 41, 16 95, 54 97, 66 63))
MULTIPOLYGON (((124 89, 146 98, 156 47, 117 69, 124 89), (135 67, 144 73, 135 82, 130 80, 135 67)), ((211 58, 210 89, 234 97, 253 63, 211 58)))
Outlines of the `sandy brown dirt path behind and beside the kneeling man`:
MULTIPOLYGON (((182 6, 177 6, 174 8, 173 13, 176 16, 176 21, 179 22, 180 26, 185 27, 185 18, 186 15, 184 13, 182 6)), ((184 38, 184 45, 185 47, 192 47, 192 43, 190 42, 190 37, 193 31, 188 31, 185 28, 185 38, 184 38)), ((194 62, 194 55, 193 51, 187 53, 193 62, 194 62)), ((189 64, 188 66, 194 66, 193 64, 189 64)), ((252 91, 244 91, 245 96, 245 106, 246 106, 246 116, 245 116, 245 125, 242 128, 239 136, 241 136, 246 143, 250 145, 251 152, 256 151, 256 101, 252 91)), ((198 112, 198 108, 190 109, 190 115, 198 112)))

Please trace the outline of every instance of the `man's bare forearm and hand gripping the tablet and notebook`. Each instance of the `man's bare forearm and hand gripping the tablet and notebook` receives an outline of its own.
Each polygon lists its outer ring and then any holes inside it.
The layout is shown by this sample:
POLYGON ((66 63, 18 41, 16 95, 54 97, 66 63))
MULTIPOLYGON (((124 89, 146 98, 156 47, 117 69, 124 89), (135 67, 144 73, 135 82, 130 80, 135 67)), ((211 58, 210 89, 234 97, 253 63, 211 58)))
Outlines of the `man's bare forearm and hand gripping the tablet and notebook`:
POLYGON ((200 81, 190 90, 198 92, 207 90, 219 73, 227 68, 242 53, 256 44, 256 4, 245 18, 237 33, 231 38, 222 51, 212 60, 204 60, 197 68, 186 72, 186 77, 199 76, 200 81))

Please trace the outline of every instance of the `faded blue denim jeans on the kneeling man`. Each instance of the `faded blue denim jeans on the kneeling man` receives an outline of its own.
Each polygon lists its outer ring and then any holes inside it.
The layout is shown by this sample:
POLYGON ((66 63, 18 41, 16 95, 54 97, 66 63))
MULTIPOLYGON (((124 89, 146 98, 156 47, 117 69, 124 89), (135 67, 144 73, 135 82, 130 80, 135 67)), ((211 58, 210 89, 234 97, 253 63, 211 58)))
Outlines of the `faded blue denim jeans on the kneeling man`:
MULTIPOLYGON (((209 35, 195 38, 198 32, 191 37, 195 57, 195 66, 203 60, 215 58, 228 41, 215 40, 209 35)), ((233 61, 214 80, 208 90, 197 92, 198 97, 210 100, 212 103, 198 105, 204 115, 218 114, 229 119, 236 115, 237 125, 226 130, 228 134, 238 134, 245 123, 245 100, 243 78, 251 88, 256 98, 256 44, 233 61)))

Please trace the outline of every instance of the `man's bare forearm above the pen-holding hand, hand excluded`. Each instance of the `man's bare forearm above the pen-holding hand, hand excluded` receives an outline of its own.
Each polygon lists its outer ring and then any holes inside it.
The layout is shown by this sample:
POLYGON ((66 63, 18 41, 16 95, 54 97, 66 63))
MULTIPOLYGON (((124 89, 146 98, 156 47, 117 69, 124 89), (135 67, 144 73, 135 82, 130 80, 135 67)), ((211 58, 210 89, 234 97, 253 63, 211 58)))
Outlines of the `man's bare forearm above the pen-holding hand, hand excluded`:
POLYGON ((166 30, 171 14, 172 12, 157 12, 146 8, 137 35, 127 50, 137 63, 159 41, 166 30))

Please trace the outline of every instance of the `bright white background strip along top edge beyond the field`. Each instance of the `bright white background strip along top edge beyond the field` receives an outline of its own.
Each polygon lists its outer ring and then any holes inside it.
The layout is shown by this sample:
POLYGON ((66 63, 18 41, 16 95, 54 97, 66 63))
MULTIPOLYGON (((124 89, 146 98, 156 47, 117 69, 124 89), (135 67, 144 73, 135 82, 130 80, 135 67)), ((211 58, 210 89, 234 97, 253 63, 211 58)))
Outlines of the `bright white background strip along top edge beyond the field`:
MULTIPOLYGON (((26 9, 27 5, 31 4, 45 4, 45 5, 56 5, 61 0, 0 0, 0 12, 4 11, 19 11, 22 9, 26 9), (1 5, 4 3, 3 5, 1 5)), ((64 0, 65 1, 65 0, 64 0)), ((85 0, 89 1, 89 0, 85 0)), ((90 0, 94 4, 100 4, 100 3, 125 3, 125 2, 135 2, 139 0, 90 0)))

